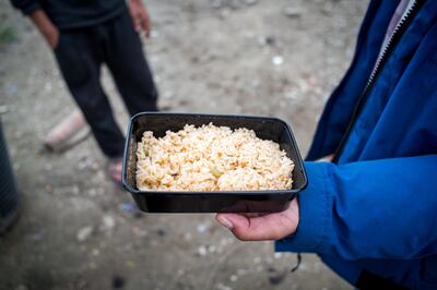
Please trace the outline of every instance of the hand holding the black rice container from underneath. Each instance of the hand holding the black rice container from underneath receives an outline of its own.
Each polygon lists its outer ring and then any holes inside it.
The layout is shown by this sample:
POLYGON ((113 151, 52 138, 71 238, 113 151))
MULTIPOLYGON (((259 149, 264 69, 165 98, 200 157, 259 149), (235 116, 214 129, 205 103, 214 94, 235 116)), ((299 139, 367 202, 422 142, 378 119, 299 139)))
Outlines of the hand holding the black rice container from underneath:
POLYGON ((241 241, 280 240, 296 231, 299 223, 299 206, 294 198, 281 213, 217 214, 215 219, 241 241))

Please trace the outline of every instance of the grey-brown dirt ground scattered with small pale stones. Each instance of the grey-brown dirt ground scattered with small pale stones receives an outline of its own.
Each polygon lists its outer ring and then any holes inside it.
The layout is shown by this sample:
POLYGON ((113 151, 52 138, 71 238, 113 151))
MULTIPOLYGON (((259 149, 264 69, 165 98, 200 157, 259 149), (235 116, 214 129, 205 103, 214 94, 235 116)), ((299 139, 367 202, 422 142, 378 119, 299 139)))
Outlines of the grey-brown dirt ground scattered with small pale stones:
MULTIPOLYGON (((169 111, 275 116, 303 155, 351 60, 366 1, 147 1, 145 50, 169 111)), ((243 243, 213 215, 150 215, 114 185, 93 137, 64 154, 42 138, 74 108, 29 21, 0 3, 0 117, 22 217, 0 239, 0 289, 352 289, 319 262, 243 243)), ((120 125, 127 113, 103 76, 120 125)))

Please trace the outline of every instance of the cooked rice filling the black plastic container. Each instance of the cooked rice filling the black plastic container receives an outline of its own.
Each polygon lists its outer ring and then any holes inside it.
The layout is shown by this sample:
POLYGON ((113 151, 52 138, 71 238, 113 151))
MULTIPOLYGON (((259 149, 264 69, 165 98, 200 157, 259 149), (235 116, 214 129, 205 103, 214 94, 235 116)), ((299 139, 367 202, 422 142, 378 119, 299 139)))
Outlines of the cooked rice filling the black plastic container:
POLYGON ((292 188, 293 161, 279 144, 252 130, 212 123, 155 138, 146 131, 137 150, 143 191, 257 191, 292 188))

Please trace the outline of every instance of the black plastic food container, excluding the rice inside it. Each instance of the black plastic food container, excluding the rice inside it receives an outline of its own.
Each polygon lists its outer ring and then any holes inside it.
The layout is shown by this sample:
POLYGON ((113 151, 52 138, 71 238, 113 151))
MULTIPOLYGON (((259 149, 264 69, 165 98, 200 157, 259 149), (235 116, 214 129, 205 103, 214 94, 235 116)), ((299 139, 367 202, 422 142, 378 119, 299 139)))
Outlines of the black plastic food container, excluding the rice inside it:
POLYGON ((307 185, 300 154, 287 123, 275 118, 194 113, 143 112, 132 117, 125 148, 122 184, 138 207, 149 213, 273 213, 285 209, 290 201, 307 185), (135 185, 137 143, 144 131, 162 137, 167 130, 177 132, 186 124, 200 126, 247 128, 258 137, 280 144, 294 161, 293 189, 272 191, 164 192, 140 191, 135 185))

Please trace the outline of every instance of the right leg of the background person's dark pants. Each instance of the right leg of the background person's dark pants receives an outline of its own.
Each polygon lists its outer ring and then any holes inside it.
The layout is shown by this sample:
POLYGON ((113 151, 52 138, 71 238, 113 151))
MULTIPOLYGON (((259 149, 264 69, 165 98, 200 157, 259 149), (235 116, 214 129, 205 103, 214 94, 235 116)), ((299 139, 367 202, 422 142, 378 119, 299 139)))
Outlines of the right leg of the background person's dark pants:
POLYGON ((105 24, 105 61, 131 116, 156 111, 157 90, 129 12, 105 24))

